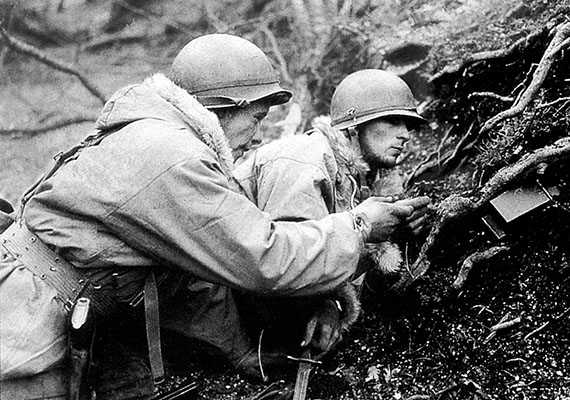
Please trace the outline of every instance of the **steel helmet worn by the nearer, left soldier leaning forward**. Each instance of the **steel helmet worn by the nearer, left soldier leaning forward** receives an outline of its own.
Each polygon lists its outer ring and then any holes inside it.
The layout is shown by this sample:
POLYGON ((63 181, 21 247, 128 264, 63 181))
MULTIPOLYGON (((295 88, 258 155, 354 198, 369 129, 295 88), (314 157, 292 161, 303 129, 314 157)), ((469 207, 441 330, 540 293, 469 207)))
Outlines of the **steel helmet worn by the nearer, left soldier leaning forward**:
POLYGON ((266 98, 277 105, 291 98, 291 92, 279 86, 275 69, 259 47, 226 34, 190 41, 174 59, 170 79, 207 108, 242 106, 266 98))

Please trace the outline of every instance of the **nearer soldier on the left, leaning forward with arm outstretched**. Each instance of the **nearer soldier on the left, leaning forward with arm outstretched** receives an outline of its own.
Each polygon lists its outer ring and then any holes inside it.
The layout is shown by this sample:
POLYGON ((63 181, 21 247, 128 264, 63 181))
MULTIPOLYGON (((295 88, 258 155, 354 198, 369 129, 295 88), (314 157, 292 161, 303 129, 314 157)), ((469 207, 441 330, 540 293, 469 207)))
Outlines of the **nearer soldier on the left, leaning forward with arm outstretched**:
POLYGON ((0 291, 3 397, 63 398, 69 381, 76 397, 87 388, 97 399, 149 398, 167 336, 178 355, 195 340, 194 350, 251 372, 259 360, 235 291, 334 290, 354 274, 365 243, 412 214, 369 199, 351 212, 282 222, 246 198, 234 158, 269 108, 290 97, 257 46, 218 34, 190 41, 168 75, 111 97, 96 131, 58 156, 0 238, 0 271, 10 278, 0 291), (89 305, 96 336, 79 335, 79 368, 67 379, 67 335, 91 326, 89 305), (40 318, 43 328, 29 328, 40 318))

